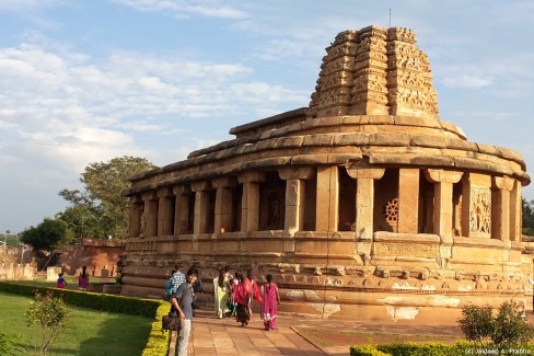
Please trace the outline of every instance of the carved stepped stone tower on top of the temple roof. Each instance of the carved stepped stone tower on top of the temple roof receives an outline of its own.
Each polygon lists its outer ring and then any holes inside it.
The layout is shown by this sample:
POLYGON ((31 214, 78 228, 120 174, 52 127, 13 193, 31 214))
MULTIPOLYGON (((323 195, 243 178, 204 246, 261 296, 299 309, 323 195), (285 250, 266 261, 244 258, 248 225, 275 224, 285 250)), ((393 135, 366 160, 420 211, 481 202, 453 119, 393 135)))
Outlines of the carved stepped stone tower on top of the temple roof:
POLYGON ((427 54, 408 28, 346 31, 326 48, 309 115, 408 115, 437 118, 427 54))

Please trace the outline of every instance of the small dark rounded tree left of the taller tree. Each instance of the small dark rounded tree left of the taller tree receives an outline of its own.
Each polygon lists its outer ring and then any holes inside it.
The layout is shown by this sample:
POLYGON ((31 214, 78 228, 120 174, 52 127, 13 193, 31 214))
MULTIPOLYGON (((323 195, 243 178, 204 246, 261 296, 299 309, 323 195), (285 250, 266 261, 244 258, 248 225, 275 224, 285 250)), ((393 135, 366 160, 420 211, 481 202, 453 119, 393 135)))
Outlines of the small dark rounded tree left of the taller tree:
POLYGON ((36 250, 53 251, 74 241, 74 236, 67 222, 45 218, 37 227, 30 227, 22 231, 21 241, 31 244, 36 250))

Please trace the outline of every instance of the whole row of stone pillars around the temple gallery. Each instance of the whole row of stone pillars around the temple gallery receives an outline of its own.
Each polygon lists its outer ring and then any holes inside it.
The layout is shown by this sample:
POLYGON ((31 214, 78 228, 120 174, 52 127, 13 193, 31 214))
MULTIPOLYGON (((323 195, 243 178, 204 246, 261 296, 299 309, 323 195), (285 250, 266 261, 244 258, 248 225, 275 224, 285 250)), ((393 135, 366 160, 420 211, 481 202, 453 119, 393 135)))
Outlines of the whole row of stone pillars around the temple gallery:
MULTIPOLYGON (((292 236, 304 227, 305 209, 315 208, 315 231, 336 231, 339 219, 339 166, 282 168, 278 175, 286 181, 285 234, 292 236), (305 182, 316 176, 316 202, 306 206, 305 182)), ((346 168, 357 182, 355 231, 359 239, 371 240, 373 234, 374 185, 383 177, 384 168, 346 168)), ((463 237, 479 237, 477 220, 490 221, 487 237, 502 241, 520 241, 521 183, 509 176, 423 169, 425 177, 433 184, 433 233, 442 241, 453 238, 453 185, 462 181, 460 215, 463 237), (486 203, 484 203, 484 202, 486 203), (483 204, 484 203, 484 204, 483 204), (481 206, 490 211, 481 211, 481 206), (489 216, 488 216, 489 214, 489 216)), ((194 182, 189 185, 160 188, 130 197, 129 237, 200 234, 207 232, 210 214, 213 233, 230 232, 233 214, 241 213, 239 231, 258 231, 260 183, 263 172, 246 172, 235 176, 194 182), (234 191, 242 184, 241 211, 235 211, 234 191), (214 192, 214 208, 210 211, 210 194, 214 192), (193 209, 193 211, 191 211, 193 209)), ((396 232, 418 233, 420 170, 398 169, 398 220, 396 232)), ((458 213, 456 213, 458 214, 458 213)), ((481 222, 480 222, 481 223, 481 222)))

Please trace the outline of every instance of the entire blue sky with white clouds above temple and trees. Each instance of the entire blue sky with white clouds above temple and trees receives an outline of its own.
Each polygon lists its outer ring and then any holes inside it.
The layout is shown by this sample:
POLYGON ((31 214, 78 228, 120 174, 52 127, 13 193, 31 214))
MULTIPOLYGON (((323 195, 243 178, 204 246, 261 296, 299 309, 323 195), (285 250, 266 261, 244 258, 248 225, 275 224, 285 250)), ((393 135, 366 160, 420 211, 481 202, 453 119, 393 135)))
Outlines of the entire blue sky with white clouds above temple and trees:
POLYGON ((0 0, 0 232, 63 210, 91 162, 169 164, 307 106, 324 48, 390 9, 429 55, 441 119, 533 166, 534 1, 0 0))

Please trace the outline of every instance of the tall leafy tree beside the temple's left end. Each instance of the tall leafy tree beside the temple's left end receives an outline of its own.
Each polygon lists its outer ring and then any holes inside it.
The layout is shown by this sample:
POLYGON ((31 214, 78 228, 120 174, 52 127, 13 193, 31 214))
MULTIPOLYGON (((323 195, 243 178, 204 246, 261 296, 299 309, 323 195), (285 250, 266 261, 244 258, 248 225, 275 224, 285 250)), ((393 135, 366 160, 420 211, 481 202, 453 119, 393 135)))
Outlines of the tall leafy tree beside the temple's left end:
POLYGON ((132 175, 154 168, 143 158, 129 156, 89 164, 80 179, 85 185, 83 192, 59 192, 77 208, 69 211, 67 208, 60 218, 79 236, 123 238, 128 227, 128 199, 121 193, 130 186, 132 175), (89 227, 91 230, 86 230, 89 227))

